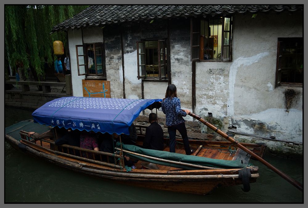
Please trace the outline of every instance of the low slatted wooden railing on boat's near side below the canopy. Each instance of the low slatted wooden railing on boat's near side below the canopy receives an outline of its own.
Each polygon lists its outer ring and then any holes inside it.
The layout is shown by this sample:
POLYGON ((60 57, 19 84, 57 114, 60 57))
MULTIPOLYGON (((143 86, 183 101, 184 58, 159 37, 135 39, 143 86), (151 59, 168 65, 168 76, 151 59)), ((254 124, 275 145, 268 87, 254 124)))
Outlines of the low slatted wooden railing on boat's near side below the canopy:
POLYGON ((40 148, 47 150, 49 152, 55 153, 56 155, 63 155, 67 157, 73 157, 75 159, 80 159, 87 162, 92 162, 99 165, 106 165, 109 167, 114 167, 118 169, 123 169, 123 164, 121 164, 123 160, 123 156, 115 153, 107 153, 103 151, 95 151, 91 149, 84 149, 80 147, 75 147, 71 145, 56 145, 54 141, 50 139, 41 139, 40 144, 37 144, 32 138, 28 137, 28 132, 26 131, 20 131, 21 140, 35 146, 39 146, 40 148), (48 143, 50 145, 50 148, 44 147, 44 143, 48 143), (69 150, 73 150, 73 154, 69 154, 69 150), (67 153, 65 153, 67 150, 67 153), (79 152, 80 155, 85 154, 85 157, 78 156, 76 152, 79 152), (92 157, 91 157, 91 156, 92 157), (107 161, 104 161, 103 156, 107 157, 107 161), (114 162, 111 162, 110 158, 114 160, 114 162))

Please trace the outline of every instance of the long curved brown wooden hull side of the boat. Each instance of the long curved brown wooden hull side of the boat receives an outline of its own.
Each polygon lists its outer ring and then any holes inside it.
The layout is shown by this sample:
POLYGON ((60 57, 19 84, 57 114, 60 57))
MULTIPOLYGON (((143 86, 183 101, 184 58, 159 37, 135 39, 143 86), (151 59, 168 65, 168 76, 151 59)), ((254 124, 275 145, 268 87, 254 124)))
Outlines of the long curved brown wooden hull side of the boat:
MULTIPOLYGON (((217 186, 234 186, 242 184, 238 171, 240 169, 205 169, 205 170, 152 170, 152 169, 117 169, 95 164, 82 159, 57 155, 48 149, 17 141, 6 135, 6 141, 15 149, 39 157, 55 165, 71 169, 83 174, 100 177, 115 182, 132 184, 146 188, 185 192, 191 194, 207 194, 217 186)), ((257 167, 251 168, 250 182, 256 182, 259 174, 257 167)))

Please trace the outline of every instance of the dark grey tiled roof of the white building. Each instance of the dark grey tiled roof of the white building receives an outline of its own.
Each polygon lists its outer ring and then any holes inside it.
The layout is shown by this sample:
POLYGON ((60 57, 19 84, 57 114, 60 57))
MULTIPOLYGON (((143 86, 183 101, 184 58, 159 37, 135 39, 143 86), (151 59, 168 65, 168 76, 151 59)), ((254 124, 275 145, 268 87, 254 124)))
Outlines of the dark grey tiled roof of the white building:
POLYGON ((52 32, 158 18, 303 10, 303 5, 93 5, 53 27, 52 32))

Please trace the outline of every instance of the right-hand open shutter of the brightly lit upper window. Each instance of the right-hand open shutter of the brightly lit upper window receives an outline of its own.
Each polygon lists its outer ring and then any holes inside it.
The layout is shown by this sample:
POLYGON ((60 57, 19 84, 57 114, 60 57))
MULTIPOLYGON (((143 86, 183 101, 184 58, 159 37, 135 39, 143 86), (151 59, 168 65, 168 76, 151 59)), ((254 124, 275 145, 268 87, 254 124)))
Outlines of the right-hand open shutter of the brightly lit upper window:
POLYGON ((230 61, 231 53, 231 18, 223 18, 221 39, 221 60, 230 61))

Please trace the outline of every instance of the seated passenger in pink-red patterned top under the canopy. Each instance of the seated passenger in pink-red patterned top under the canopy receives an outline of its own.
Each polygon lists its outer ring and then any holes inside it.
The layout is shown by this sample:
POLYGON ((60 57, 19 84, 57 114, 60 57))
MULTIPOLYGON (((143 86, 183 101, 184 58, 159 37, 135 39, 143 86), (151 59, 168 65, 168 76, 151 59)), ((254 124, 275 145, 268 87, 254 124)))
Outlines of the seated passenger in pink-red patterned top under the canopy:
MULTIPOLYGON (((83 130, 80 134, 80 147, 99 151, 97 135, 93 131, 87 132, 86 130, 83 130)), ((85 158, 93 159, 92 153, 88 153, 88 157, 86 152, 83 152, 82 154, 85 158)))

